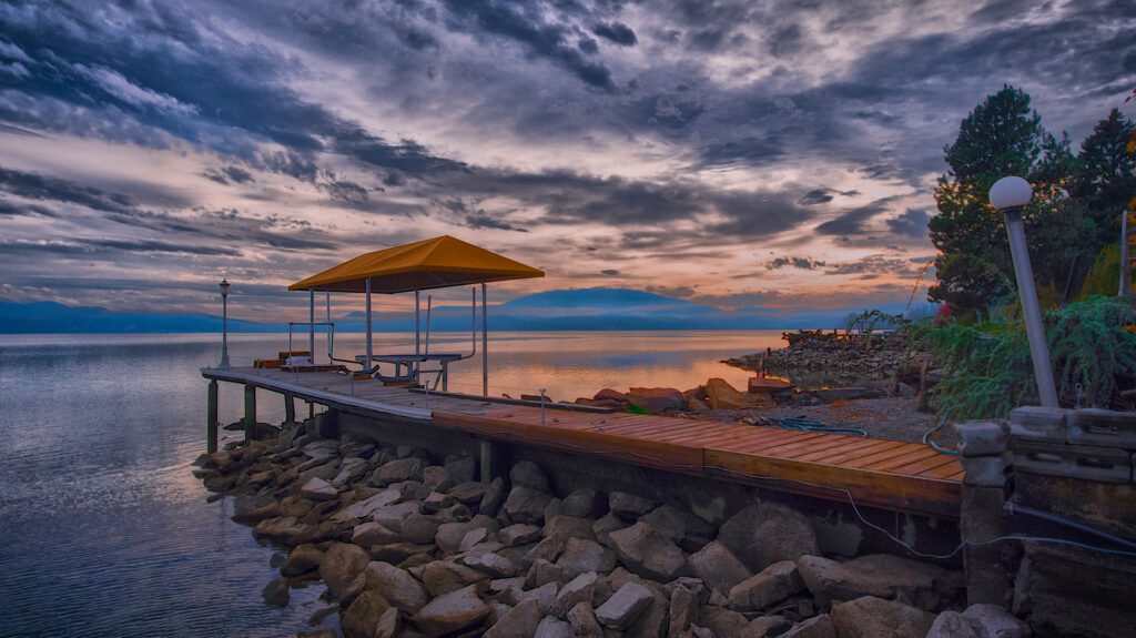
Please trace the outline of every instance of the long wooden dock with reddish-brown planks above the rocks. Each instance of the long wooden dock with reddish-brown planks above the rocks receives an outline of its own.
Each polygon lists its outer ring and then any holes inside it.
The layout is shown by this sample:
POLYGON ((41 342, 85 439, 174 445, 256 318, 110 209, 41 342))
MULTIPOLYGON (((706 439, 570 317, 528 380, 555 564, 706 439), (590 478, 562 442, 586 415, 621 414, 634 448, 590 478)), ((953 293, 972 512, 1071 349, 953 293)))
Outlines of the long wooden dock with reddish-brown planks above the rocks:
MULTIPOLYGON (((833 501, 851 497, 858 505, 959 518, 963 476, 959 457, 919 443, 624 412, 580 412, 556 404, 542 411, 471 396, 427 397, 371 380, 352 385, 345 375, 335 372, 232 368, 202 369, 201 373, 214 381, 260 387, 376 418, 420 421, 487 439, 833 501)), ((210 388, 212 395, 216 391, 210 388)), ((211 406, 211 412, 215 410, 211 406)))

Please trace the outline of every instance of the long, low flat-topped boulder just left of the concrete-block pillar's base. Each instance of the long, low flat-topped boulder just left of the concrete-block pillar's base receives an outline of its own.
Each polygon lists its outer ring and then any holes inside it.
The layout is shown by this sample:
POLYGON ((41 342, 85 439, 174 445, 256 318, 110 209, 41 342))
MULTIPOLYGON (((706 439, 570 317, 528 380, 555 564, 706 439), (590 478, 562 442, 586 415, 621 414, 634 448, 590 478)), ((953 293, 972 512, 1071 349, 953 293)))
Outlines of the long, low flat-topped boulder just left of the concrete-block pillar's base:
POLYGON ((963 586, 957 572, 891 554, 869 554, 846 563, 802 556, 797 566, 804 585, 821 607, 832 601, 875 596, 938 610, 959 596, 963 586))

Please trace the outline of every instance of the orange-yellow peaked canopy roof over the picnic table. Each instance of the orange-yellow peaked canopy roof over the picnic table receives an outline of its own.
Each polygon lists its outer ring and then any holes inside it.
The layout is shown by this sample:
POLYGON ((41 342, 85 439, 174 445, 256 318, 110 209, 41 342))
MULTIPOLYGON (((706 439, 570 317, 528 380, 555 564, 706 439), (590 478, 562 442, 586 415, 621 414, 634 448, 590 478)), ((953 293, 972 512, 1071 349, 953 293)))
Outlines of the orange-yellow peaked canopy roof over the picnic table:
POLYGON ((312 275, 290 291, 404 293, 543 277, 544 271, 449 235, 369 252, 312 275))

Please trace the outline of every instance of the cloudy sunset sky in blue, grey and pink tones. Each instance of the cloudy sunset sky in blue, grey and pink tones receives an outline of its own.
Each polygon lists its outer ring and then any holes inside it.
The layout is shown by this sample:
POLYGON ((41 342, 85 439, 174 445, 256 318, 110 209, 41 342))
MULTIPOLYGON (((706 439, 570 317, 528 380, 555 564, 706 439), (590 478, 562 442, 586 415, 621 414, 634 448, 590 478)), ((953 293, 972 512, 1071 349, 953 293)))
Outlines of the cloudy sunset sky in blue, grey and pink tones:
POLYGON ((962 118, 1009 83, 1077 149, 1134 33, 1130 0, 5 1, 0 300, 215 314, 226 277, 301 318, 289 284, 448 234, 546 272, 491 302, 907 301, 962 118))

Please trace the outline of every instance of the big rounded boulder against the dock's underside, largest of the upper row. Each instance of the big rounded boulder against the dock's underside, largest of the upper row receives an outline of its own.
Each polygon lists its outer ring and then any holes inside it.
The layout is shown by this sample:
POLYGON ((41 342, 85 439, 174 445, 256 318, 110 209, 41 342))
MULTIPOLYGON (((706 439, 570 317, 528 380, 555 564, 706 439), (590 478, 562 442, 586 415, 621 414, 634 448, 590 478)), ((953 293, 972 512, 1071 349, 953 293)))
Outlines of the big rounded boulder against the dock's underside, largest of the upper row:
POLYGON ((750 505, 721 524, 718 542, 754 573, 780 561, 817 555, 817 535, 803 514, 779 503, 750 505))

